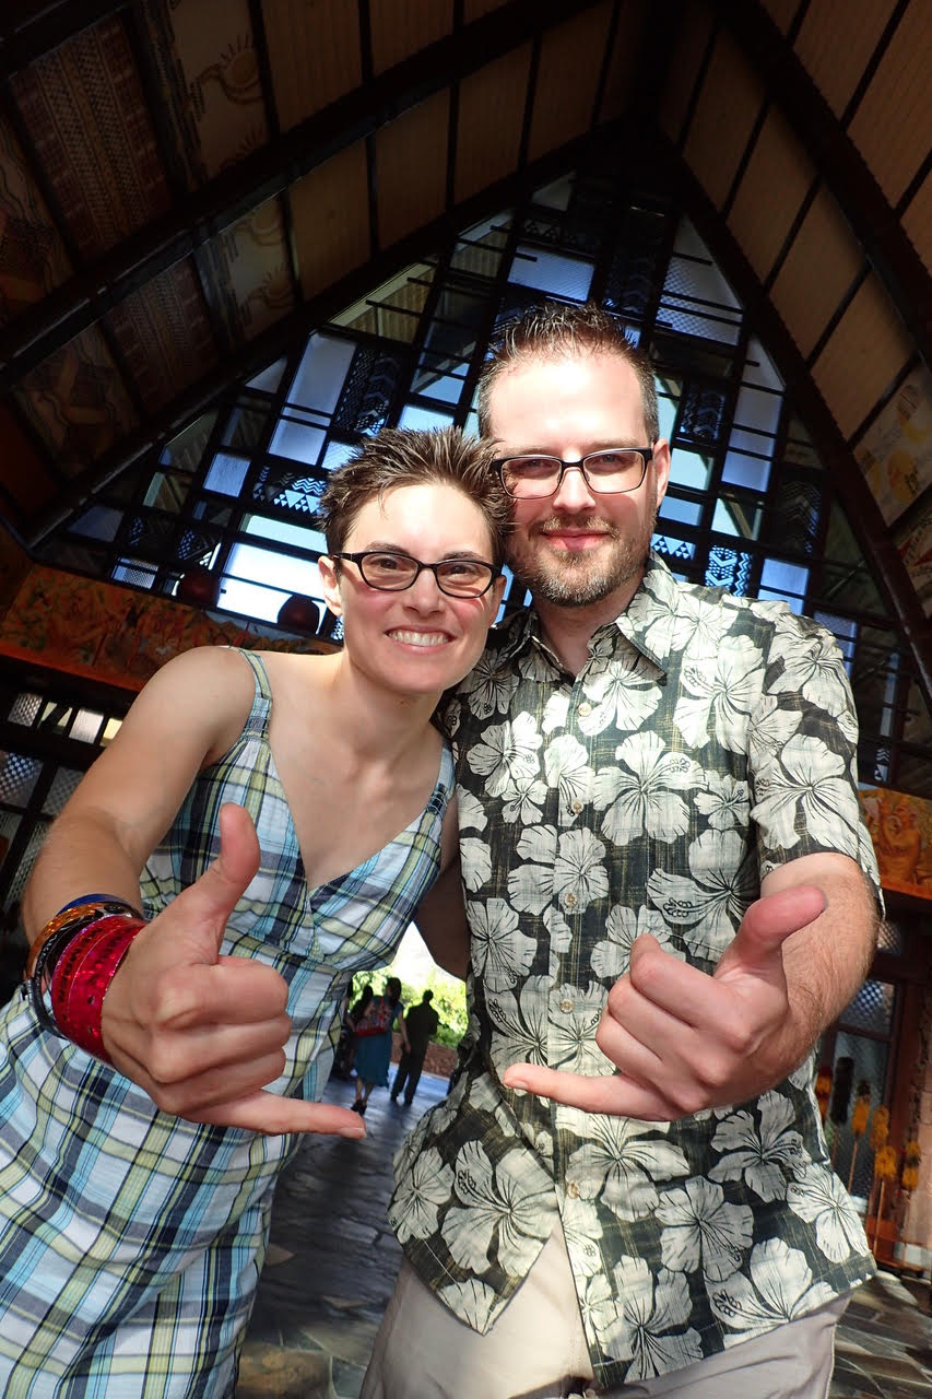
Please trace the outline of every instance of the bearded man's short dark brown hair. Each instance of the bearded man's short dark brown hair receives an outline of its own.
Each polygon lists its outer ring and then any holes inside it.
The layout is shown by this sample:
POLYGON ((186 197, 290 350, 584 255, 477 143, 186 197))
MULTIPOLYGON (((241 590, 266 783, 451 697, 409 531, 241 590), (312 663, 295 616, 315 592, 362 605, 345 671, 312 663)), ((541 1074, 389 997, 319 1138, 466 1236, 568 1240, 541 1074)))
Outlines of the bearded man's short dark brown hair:
POLYGON ((630 364, 641 386, 644 427, 649 445, 661 435, 656 382, 648 355, 628 340, 624 325, 595 302, 570 305, 549 301, 532 306, 500 326, 479 374, 479 431, 491 436, 490 397, 495 381, 526 360, 563 360, 588 354, 614 354, 630 364))

